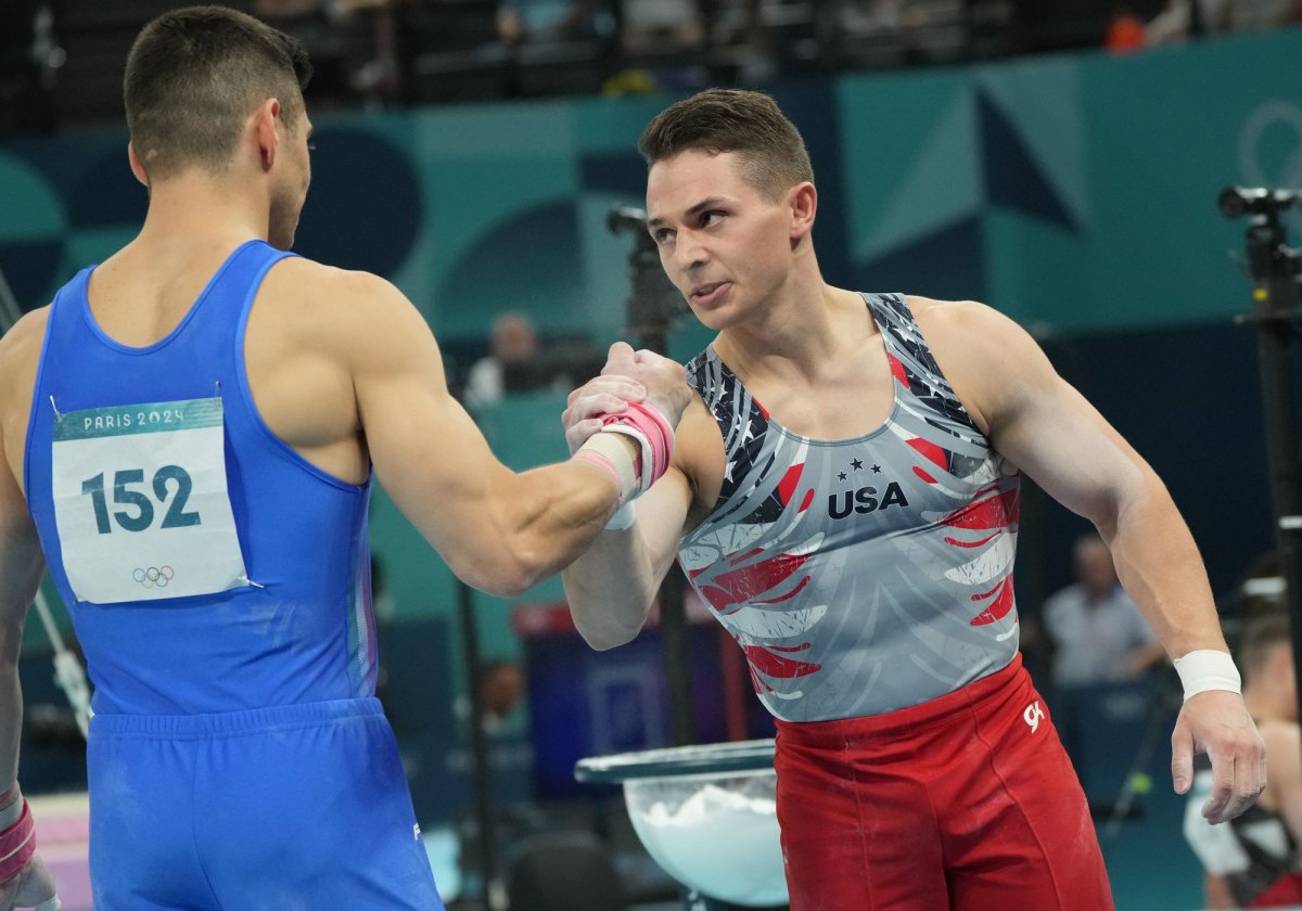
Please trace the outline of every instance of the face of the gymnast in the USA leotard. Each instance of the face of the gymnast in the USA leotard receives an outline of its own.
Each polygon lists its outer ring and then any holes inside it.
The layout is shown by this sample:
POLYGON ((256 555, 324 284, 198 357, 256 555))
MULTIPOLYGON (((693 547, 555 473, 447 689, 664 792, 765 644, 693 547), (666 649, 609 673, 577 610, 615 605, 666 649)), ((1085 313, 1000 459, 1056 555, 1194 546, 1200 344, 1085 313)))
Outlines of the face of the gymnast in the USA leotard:
POLYGON ((687 150, 647 174, 647 226, 665 275, 711 329, 743 319, 788 282, 790 193, 768 199, 734 152, 687 150))

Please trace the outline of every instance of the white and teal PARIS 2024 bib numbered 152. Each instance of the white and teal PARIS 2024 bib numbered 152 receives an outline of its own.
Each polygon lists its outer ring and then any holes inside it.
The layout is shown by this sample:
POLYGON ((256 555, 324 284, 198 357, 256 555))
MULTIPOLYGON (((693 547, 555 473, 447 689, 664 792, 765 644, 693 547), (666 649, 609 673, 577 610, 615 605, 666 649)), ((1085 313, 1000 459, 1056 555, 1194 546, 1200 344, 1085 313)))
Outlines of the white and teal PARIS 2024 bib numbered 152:
POLYGON ((249 583, 224 436, 220 398, 55 419, 55 523, 78 601, 211 595, 249 583))

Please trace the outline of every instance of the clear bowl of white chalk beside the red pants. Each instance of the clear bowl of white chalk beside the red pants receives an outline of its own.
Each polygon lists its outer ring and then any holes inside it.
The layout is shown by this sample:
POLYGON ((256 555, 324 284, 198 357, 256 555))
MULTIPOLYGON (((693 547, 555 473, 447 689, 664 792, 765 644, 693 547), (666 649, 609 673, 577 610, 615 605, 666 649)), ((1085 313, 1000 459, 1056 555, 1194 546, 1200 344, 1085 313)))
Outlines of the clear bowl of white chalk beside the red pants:
POLYGON ((772 739, 594 756, 574 777, 624 785, 633 829, 682 884, 686 911, 786 903, 772 739))

